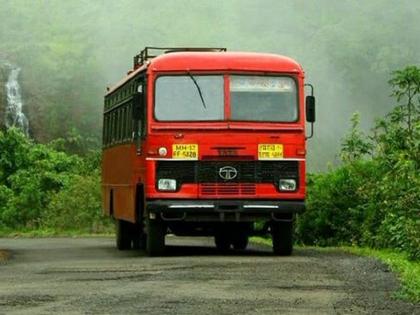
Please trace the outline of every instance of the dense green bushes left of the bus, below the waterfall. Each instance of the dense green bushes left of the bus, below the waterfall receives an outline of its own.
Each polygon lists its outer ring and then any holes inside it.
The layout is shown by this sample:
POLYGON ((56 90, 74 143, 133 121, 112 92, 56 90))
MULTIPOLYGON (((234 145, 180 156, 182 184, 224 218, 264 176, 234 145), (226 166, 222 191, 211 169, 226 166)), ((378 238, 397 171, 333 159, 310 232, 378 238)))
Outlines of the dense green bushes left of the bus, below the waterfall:
POLYGON ((0 131, 0 234, 109 231, 100 211, 100 154, 65 153, 66 141, 36 144, 17 129, 0 131))

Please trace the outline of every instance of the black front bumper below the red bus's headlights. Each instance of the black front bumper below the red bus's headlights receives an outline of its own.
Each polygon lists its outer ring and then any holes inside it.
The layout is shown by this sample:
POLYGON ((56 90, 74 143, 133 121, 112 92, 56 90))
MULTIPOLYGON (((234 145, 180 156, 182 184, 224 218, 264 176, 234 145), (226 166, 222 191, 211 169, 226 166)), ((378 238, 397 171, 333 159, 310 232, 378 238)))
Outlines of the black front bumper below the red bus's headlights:
POLYGON ((303 200, 148 200, 147 213, 164 221, 282 220, 305 210, 303 200))

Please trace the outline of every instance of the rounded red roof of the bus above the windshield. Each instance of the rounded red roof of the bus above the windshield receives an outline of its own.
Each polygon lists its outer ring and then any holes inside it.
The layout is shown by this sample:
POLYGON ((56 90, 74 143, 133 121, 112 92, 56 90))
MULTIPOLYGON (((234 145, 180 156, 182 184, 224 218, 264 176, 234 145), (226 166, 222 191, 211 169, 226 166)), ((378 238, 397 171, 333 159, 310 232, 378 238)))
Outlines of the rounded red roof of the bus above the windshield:
POLYGON ((302 67, 289 57, 250 52, 171 52, 147 60, 110 88, 106 95, 144 71, 260 71, 302 73, 302 67))

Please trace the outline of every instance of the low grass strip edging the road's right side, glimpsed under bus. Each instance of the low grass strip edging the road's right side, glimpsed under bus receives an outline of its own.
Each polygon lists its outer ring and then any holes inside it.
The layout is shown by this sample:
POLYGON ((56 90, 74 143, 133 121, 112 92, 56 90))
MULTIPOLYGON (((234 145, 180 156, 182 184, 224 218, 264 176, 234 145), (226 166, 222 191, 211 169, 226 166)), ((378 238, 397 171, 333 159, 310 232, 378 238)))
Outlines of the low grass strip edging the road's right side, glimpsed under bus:
MULTIPOLYGON (((271 246, 271 239, 252 237, 251 242, 271 246)), ((407 254, 390 249, 371 249, 355 246, 340 247, 303 247, 319 251, 344 251, 358 256, 367 256, 384 262, 398 277, 401 288, 395 292, 395 297, 414 303, 420 303, 420 262, 408 259, 407 254)))

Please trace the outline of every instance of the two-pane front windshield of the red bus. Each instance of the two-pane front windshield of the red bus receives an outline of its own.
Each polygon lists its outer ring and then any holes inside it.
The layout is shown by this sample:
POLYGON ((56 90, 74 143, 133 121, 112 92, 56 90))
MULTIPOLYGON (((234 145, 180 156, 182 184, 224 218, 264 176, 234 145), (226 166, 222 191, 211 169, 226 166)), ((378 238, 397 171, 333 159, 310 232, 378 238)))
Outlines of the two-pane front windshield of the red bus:
POLYGON ((296 82, 287 76, 231 75, 230 117, 225 117, 222 75, 173 75, 156 80, 159 121, 295 122, 296 82))

